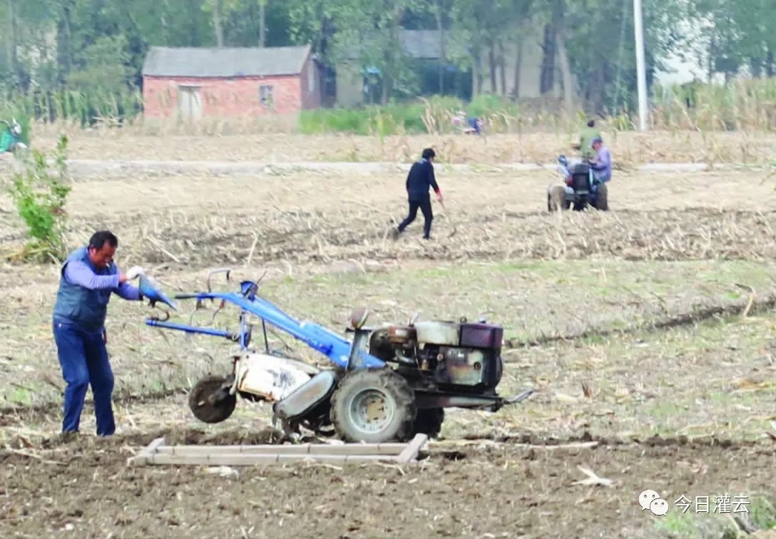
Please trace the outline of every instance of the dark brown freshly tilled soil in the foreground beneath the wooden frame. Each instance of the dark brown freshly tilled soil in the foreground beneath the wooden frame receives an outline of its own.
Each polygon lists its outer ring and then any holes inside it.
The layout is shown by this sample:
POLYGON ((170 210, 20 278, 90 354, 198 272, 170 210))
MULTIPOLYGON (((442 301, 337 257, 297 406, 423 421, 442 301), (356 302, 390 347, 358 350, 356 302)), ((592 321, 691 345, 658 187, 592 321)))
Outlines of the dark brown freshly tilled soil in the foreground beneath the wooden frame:
MULTIPOLYGON (((667 517, 641 510, 640 492, 660 492, 674 512, 681 511, 674 500, 682 495, 713 499, 729 493, 754 503, 754 492, 771 489, 772 476, 764 472, 776 466, 772 448, 655 438, 592 448, 442 442, 429 446, 417 465, 404 467, 128 467, 131 449, 157 434, 54 445, 36 453, 44 461, 5 454, 0 534, 655 537, 667 517), (580 484, 587 478, 580 468, 606 484, 580 484)), ((187 437, 170 439, 182 443, 187 437)), ((233 443, 234 437, 220 442, 233 443)), ((698 529, 713 530, 715 517, 699 515, 698 529)))

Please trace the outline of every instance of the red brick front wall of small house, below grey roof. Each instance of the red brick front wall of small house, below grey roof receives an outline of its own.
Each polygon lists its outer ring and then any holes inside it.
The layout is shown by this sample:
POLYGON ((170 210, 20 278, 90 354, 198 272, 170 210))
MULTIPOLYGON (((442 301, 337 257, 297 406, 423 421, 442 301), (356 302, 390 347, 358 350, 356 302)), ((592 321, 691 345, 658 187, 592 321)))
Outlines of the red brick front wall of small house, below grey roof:
MULTIPOLYGON (((144 115, 149 118, 175 116, 178 85, 200 87, 202 116, 262 116, 270 109, 259 100, 259 86, 271 85, 275 112, 299 112, 303 106, 300 76, 245 78, 143 78, 144 115)), ((308 101, 309 102, 309 101, 308 101)))

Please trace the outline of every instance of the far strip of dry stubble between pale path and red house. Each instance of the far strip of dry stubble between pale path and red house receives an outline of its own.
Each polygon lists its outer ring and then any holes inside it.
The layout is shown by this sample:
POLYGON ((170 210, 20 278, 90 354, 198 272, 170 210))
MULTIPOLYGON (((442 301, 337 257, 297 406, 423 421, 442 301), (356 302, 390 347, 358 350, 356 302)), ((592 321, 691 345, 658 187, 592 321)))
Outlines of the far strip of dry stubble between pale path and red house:
MULTIPOLYGON (((438 161, 498 164, 549 163, 559 154, 573 155, 580 126, 555 132, 528 129, 492 136, 376 136, 215 133, 211 136, 144 136, 140 130, 71 130, 73 159, 158 159, 175 161, 413 161, 424 147, 434 147, 438 161)), ((615 132, 601 126, 605 143, 618 164, 651 162, 767 164, 776 150, 773 133, 651 131, 615 132)), ((35 147, 52 150, 60 131, 33 130, 35 147)))

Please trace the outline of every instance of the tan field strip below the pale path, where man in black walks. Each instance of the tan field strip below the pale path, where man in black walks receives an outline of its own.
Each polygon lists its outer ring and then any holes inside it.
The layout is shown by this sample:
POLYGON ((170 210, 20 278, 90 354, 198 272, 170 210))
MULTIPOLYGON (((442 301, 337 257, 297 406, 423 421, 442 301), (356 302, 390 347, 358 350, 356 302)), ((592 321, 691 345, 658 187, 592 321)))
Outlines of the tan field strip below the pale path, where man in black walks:
MULTIPOLYGON (((294 267, 378 261, 599 258, 772 260, 776 201, 764 173, 617 174, 611 212, 546 211, 549 172, 438 173, 432 235, 422 218, 400 242, 390 228, 407 212, 404 173, 173 175, 74 184, 71 242, 106 226, 122 240, 126 264, 207 268, 223 264, 294 267)), ((0 198, 0 240, 22 225, 0 198)))

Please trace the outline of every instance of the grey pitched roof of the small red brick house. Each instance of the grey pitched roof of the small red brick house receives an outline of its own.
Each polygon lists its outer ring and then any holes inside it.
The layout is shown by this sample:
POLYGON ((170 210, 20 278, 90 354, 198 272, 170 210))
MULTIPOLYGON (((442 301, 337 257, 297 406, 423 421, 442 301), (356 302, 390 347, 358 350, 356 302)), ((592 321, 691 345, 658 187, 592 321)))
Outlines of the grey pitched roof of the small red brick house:
POLYGON ((143 74, 156 77, 261 77, 300 74, 310 46, 151 47, 143 74))

